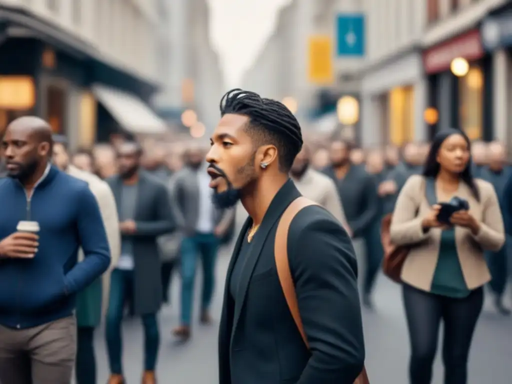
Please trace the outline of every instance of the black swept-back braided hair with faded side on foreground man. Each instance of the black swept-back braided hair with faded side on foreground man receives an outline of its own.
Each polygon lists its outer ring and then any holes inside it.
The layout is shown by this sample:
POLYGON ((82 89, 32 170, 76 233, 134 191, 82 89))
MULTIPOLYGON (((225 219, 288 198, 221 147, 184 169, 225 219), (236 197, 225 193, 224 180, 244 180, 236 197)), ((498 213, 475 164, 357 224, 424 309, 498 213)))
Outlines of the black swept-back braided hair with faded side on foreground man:
POLYGON ((278 149, 280 172, 290 171, 303 140, 301 126, 283 103, 237 88, 222 97, 220 111, 221 116, 247 116, 249 122, 245 130, 255 146, 274 145, 278 149))

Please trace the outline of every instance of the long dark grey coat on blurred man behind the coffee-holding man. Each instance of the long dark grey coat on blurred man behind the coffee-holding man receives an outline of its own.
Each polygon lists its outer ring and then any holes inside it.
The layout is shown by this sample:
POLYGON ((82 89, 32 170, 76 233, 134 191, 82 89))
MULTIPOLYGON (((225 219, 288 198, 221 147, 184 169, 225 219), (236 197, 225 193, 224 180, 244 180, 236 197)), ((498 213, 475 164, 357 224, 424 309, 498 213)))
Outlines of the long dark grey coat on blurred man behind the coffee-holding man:
MULTIPOLYGON (((117 209, 120 209, 122 180, 114 176, 107 180, 117 209)), ((157 238, 175 229, 167 188, 157 179, 140 172, 135 209, 136 232, 134 246, 134 311, 136 314, 155 313, 162 303, 160 255, 157 238)))

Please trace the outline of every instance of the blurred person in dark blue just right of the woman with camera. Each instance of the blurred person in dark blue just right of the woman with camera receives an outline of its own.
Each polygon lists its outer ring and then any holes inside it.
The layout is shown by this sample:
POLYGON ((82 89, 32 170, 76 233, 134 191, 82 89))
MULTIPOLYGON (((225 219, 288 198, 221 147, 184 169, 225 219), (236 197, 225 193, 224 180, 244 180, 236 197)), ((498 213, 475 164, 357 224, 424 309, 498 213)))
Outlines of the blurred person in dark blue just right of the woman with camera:
MULTIPOLYGON (((500 142, 489 143, 487 147, 488 165, 480 170, 480 177, 493 184, 498 200, 500 202, 501 211, 505 211, 505 185, 510 177, 510 167, 506 165, 506 149, 500 142)), ((506 238, 505 238, 506 239, 506 238)), ((508 249, 507 242, 497 252, 487 252, 487 264, 489 266, 492 280, 489 287, 494 294, 494 305, 499 313, 508 316, 510 309, 503 303, 505 289, 508 282, 508 249)))

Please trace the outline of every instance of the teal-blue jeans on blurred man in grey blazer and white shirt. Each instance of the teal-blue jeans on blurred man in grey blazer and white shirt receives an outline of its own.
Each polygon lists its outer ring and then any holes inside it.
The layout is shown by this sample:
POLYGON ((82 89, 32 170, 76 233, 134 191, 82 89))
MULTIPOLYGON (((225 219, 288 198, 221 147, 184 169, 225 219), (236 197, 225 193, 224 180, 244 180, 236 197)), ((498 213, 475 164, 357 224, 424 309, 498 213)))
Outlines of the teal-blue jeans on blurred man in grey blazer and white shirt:
POLYGON ((201 310, 208 310, 215 285, 219 239, 213 233, 196 233, 181 243, 181 325, 190 326, 198 256, 203 265, 201 310))

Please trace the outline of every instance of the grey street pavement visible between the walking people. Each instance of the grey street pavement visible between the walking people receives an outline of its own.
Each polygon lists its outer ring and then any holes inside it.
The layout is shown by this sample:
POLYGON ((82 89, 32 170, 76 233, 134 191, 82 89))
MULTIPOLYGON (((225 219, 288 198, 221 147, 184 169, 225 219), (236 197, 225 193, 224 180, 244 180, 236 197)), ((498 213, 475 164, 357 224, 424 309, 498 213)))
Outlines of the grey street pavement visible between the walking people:
MULTIPOLYGON (((229 256, 230 252, 226 249, 219 254, 217 294, 212 304, 212 315, 216 323, 209 327, 200 326, 196 308, 193 337, 188 344, 181 346, 174 343, 171 334, 172 328, 179 323, 179 276, 174 279, 171 292, 172 305, 163 308, 160 313, 161 348, 158 364, 160 383, 218 384, 217 333, 229 256)), ((200 283, 199 276, 196 293, 199 292, 200 283)), ((374 302, 374 311, 363 311, 366 364, 370 381, 372 384, 409 384, 407 380, 409 340, 399 286, 384 276, 379 276, 374 302)), ((509 297, 508 303, 510 302, 509 297)), ((123 335, 125 376, 128 384, 134 384, 140 382, 143 363, 143 335, 140 321, 127 319, 123 335)), ((96 331, 96 351, 98 384, 101 384, 108 377, 103 329, 96 331)), ((512 317, 503 317, 494 313, 487 300, 474 337, 467 384, 510 384, 512 382, 511 357, 512 317)), ((438 356, 432 384, 443 382, 442 371, 438 356)))

